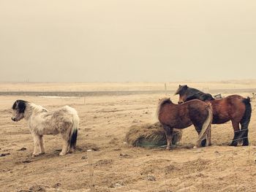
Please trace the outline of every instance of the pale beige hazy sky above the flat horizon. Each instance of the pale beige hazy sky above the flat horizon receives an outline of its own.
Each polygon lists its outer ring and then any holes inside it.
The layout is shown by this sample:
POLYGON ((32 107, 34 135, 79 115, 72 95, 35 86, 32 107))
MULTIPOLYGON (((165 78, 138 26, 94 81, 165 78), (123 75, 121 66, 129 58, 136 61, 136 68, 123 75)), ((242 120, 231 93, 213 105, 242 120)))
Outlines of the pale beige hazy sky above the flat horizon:
POLYGON ((0 81, 256 78, 255 0, 0 0, 0 81))

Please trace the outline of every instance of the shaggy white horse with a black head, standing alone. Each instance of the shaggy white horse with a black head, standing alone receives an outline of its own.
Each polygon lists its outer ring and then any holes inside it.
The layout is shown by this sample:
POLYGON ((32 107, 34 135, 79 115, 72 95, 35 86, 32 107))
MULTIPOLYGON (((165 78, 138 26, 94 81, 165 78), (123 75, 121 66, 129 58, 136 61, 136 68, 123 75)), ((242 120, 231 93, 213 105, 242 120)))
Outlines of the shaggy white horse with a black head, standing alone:
POLYGON ((12 120, 25 119, 34 137, 34 153, 37 156, 45 153, 42 136, 44 134, 61 134, 63 147, 59 155, 72 153, 75 149, 79 118, 78 112, 72 107, 65 106, 48 112, 44 107, 29 101, 17 100, 12 105, 12 120))

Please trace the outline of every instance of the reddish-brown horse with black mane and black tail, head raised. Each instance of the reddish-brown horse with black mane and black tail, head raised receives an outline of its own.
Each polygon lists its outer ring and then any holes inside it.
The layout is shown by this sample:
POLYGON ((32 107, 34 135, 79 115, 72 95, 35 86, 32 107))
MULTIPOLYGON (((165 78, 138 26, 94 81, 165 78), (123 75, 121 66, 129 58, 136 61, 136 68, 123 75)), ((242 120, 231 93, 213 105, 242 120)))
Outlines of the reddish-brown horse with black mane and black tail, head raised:
POLYGON ((230 146, 238 145, 238 141, 243 142, 243 146, 249 145, 248 126, 252 114, 252 106, 249 97, 244 98, 238 95, 227 96, 224 99, 214 99, 210 94, 203 93, 187 85, 179 85, 175 94, 179 94, 178 103, 181 104, 192 99, 200 99, 211 103, 214 118, 213 124, 222 124, 231 120, 234 137, 230 146), (241 124, 241 130, 239 128, 241 124))

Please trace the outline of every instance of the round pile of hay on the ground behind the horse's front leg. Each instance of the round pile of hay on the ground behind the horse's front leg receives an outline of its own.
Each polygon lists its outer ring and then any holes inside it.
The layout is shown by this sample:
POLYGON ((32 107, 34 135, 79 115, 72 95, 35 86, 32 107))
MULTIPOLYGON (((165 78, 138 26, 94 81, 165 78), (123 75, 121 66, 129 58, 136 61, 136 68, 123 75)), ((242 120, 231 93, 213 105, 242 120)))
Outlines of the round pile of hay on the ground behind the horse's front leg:
MULTIPOLYGON (((180 129, 174 129, 172 144, 178 144, 181 137, 182 131, 180 129)), ((131 126, 125 139, 129 146, 134 147, 159 147, 167 145, 164 128, 159 122, 131 126)))

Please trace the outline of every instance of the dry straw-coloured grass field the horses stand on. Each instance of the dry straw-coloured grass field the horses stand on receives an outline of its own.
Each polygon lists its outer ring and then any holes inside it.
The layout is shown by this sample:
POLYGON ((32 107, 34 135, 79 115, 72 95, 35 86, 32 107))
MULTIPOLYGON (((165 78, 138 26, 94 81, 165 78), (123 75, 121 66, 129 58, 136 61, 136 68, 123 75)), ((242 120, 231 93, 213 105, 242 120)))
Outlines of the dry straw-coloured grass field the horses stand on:
MULTIPOLYGON (((212 146, 193 149, 197 134, 190 126, 178 147, 129 147, 124 137, 129 127, 155 123, 157 102, 170 96, 178 84, 218 90, 223 96, 252 96, 255 80, 230 82, 168 82, 164 93, 41 97, 0 96, 0 191, 90 191, 87 150, 93 150, 96 191, 256 191, 256 100, 252 100, 248 147, 230 147, 231 123, 212 126, 212 146), (232 90, 228 92, 228 90, 232 90), (234 91, 235 90, 235 91, 234 91), (237 91, 236 91, 237 90, 237 91), (45 154, 31 157, 33 138, 25 120, 12 122, 16 99, 48 110, 69 105, 78 110, 80 128, 74 153, 59 156, 60 135, 45 135, 45 154)), ((159 91, 164 82, 126 83, 0 83, 0 91, 159 91)))

